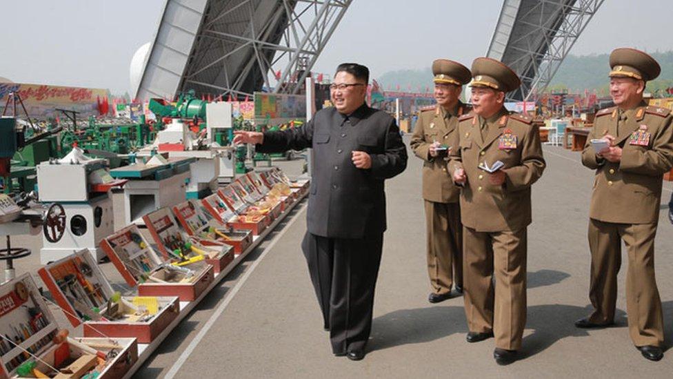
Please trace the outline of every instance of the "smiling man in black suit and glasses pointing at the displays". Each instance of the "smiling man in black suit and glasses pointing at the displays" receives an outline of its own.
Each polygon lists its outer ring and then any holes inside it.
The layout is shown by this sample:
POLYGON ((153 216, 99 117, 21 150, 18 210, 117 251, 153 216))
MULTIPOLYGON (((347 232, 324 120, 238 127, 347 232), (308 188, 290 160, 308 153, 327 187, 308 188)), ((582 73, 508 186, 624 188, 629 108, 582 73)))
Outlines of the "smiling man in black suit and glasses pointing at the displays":
POLYGON ((341 64, 333 108, 299 128, 236 132, 234 144, 261 153, 314 150, 307 227, 301 244, 335 356, 361 360, 372 328, 385 222, 383 181, 404 171, 395 120, 365 104, 369 70, 341 64))

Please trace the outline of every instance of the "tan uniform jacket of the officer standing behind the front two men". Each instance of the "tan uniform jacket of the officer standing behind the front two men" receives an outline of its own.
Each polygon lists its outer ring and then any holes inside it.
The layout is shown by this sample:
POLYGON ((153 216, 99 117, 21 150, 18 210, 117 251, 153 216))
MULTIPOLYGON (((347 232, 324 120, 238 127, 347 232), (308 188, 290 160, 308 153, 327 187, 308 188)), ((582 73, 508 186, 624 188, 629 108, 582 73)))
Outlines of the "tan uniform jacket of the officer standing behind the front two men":
POLYGON ((460 189, 454 186, 451 177, 446 171, 445 158, 448 151, 458 148, 458 117, 466 107, 460 101, 456 113, 451 115, 441 106, 423 110, 414 126, 410 146, 417 157, 423 159, 423 199, 430 202, 454 203, 458 202, 460 189), (430 156, 430 145, 439 142, 450 148, 437 157, 430 156))

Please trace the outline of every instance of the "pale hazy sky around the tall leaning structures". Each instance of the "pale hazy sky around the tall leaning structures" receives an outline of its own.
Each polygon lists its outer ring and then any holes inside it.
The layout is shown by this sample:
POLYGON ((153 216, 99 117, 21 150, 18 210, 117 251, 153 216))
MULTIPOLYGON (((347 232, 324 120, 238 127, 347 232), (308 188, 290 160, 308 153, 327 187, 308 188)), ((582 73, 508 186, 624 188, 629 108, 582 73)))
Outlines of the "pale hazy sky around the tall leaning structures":
MULTIPOLYGON (((130 92, 131 58, 154 38, 164 3, 3 0, 3 15, 13 16, 3 17, 0 77, 130 92)), ((331 73, 343 61, 356 61, 375 78, 428 68, 436 58, 469 67, 488 50, 501 7, 501 0, 354 0, 313 71, 331 73)), ((673 50, 665 33, 671 9, 670 0, 605 0, 571 53, 601 54, 622 46, 673 50)))

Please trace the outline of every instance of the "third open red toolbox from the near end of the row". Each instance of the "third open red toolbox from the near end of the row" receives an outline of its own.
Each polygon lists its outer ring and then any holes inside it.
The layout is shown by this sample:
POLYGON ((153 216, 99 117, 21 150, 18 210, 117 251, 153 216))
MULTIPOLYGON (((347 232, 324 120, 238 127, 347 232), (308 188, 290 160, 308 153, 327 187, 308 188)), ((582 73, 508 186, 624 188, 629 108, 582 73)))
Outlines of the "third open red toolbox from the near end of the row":
POLYGON ((177 267, 162 259, 135 225, 103 238, 101 248, 128 285, 138 286, 141 296, 177 296, 190 302, 214 280, 213 267, 204 261, 177 267))

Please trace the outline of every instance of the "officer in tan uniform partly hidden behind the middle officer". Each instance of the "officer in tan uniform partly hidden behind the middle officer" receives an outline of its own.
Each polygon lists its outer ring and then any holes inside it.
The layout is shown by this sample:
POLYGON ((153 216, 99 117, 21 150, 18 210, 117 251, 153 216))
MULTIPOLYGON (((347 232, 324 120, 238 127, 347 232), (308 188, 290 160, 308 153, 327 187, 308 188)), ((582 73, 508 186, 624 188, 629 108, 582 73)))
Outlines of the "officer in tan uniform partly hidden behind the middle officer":
POLYGON ((448 151, 458 148, 458 117, 468 113, 459 97, 472 76, 467 67, 448 59, 432 63, 436 106, 421 111, 414 126, 411 148, 423 159, 423 202, 427 240, 428 300, 451 297, 451 287, 463 292, 463 225, 459 188, 446 171, 448 151))

